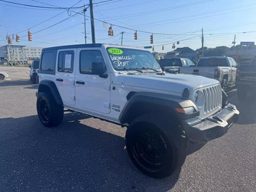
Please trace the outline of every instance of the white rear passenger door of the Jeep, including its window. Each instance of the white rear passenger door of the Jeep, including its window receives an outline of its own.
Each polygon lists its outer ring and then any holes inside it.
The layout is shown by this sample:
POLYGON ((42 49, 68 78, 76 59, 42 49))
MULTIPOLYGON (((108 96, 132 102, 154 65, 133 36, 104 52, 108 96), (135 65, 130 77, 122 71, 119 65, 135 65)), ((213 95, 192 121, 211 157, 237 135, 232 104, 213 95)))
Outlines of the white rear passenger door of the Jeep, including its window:
POLYGON ((55 83, 64 105, 74 106, 76 49, 58 50, 55 83))

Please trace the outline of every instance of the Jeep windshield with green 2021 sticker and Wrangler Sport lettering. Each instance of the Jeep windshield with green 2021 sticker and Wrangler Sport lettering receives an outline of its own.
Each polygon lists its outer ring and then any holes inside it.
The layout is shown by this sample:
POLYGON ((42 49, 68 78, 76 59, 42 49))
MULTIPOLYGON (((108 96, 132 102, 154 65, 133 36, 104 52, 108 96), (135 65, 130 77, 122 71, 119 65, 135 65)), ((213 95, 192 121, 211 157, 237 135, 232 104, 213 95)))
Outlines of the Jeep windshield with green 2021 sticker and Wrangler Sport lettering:
POLYGON ((155 69, 160 70, 160 66, 154 56, 149 51, 135 49, 107 48, 108 56, 115 70, 126 69, 155 69))

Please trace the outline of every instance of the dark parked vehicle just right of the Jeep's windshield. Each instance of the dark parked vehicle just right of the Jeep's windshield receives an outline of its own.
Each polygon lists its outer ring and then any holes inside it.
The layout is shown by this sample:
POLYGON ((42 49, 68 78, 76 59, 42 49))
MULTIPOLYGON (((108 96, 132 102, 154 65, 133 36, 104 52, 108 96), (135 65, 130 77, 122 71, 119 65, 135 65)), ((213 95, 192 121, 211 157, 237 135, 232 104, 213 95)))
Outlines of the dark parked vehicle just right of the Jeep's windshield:
MULTIPOLYGON (((194 62, 187 58, 160 59, 159 65, 163 71, 170 72, 170 73, 177 71, 173 69, 179 69, 180 67, 195 66, 194 62)), ((178 70, 178 73, 179 73, 179 70, 178 70)))

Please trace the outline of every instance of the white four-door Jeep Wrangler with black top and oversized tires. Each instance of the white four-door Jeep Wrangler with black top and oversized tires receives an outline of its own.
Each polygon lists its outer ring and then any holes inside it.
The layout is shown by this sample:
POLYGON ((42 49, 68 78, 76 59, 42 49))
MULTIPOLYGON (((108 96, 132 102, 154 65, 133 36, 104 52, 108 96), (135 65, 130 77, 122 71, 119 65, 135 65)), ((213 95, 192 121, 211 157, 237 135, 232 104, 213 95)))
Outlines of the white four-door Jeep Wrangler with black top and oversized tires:
POLYGON ((108 44, 43 49, 38 117, 56 126, 63 108, 127 126, 132 162, 154 178, 182 166, 187 141, 220 137, 239 114, 218 81, 163 73, 149 51, 108 44))

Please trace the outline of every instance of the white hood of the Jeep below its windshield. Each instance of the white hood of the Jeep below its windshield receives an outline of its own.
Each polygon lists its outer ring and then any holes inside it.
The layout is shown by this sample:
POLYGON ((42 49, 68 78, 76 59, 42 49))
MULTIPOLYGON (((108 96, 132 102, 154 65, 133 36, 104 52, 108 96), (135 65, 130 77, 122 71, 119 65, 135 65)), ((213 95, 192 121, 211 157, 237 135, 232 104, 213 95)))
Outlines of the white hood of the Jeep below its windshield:
POLYGON ((194 91, 198 88, 218 84, 215 79, 206 78, 197 75, 169 74, 157 75, 156 73, 127 75, 124 85, 145 87, 148 89, 157 89, 182 93, 185 88, 194 91))

